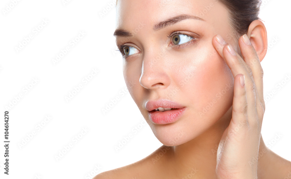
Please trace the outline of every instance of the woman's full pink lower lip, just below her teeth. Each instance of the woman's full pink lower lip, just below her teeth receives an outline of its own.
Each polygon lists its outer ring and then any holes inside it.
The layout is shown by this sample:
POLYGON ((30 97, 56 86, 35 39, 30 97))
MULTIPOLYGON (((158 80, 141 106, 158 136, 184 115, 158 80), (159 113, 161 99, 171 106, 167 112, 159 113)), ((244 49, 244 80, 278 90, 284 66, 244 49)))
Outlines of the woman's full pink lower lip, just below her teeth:
POLYGON ((172 109, 168 111, 150 111, 150 120, 155 124, 169 124, 177 121, 185 111, 185 107, 181 109, 172 109))

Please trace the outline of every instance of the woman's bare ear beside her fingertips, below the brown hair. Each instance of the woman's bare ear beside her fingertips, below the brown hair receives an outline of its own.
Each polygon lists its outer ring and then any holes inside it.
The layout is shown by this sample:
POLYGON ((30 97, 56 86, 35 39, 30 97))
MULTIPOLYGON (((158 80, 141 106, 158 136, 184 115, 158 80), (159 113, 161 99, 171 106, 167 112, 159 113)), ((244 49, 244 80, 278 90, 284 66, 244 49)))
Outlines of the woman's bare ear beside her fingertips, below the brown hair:
POLYGON ((252 21, 246 35, 255 48, 260 62, 262 62, 268 49, 267 30, 264 23, 261 20, 252 21))

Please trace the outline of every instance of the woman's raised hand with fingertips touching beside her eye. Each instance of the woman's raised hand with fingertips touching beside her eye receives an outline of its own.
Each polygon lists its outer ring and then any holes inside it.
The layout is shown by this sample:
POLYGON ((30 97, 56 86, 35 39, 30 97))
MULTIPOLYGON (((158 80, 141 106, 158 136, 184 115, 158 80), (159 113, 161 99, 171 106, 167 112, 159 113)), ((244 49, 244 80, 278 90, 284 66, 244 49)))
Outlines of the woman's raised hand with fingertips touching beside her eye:
POLYGON ((247 35, 239 38, 243 58, 220 35, 212 43, 235 77, 232 118, 217 150, 217 178, 254 179, 258 160, 250 161, 258 159, 265 112, 260 60, 247 35))

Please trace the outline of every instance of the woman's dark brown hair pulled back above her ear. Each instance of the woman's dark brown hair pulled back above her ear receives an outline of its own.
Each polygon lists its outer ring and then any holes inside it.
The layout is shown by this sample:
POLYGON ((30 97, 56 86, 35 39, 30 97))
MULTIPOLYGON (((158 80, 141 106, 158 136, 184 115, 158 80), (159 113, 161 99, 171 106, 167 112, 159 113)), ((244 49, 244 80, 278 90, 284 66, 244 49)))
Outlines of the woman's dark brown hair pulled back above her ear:
MULTIPOLYGON (((230 14, 230 22, 236 35, 245 34, 252 21, 260 19, 261 0, 214 0, 226 6, 230 14)), ((117 5, 117 0, 116 0, 117 5)))

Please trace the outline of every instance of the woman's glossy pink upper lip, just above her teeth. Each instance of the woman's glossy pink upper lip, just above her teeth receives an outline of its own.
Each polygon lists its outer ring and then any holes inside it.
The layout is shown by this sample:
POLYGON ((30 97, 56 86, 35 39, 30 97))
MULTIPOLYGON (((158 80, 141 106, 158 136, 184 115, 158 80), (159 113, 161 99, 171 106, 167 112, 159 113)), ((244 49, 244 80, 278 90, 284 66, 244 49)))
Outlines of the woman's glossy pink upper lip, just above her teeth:
POLYGON ((181 104, 169 100, 147 101, 145 103, 145 109, 148 111, 155 110, 159 107, 180 109, 184 108, 185 106, 182 106, 181 104))

